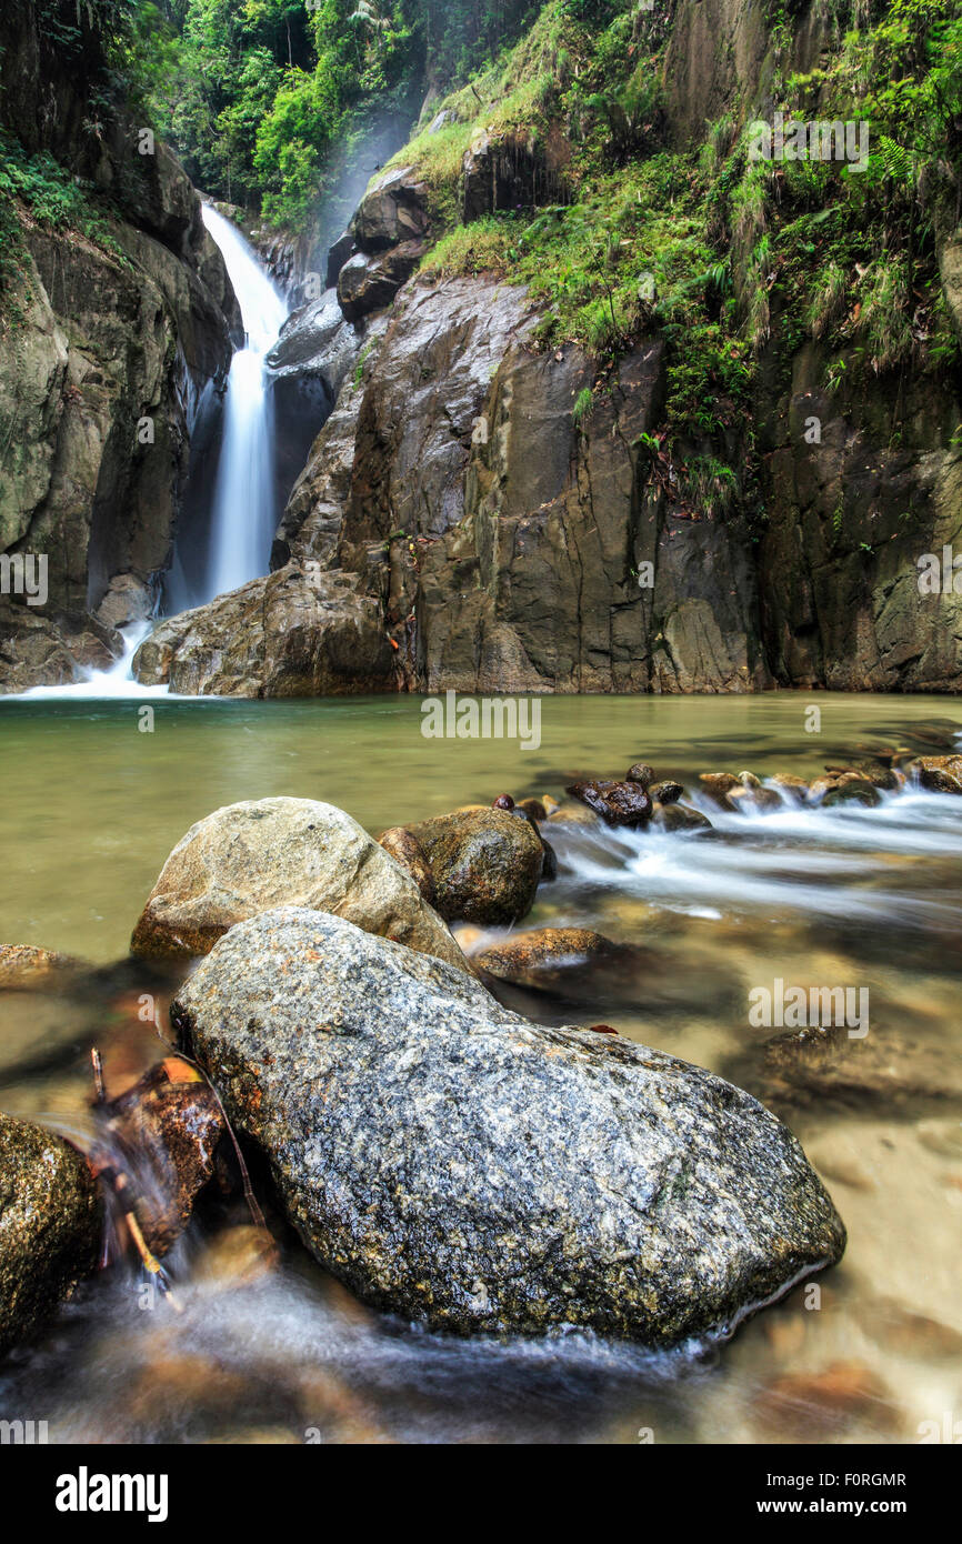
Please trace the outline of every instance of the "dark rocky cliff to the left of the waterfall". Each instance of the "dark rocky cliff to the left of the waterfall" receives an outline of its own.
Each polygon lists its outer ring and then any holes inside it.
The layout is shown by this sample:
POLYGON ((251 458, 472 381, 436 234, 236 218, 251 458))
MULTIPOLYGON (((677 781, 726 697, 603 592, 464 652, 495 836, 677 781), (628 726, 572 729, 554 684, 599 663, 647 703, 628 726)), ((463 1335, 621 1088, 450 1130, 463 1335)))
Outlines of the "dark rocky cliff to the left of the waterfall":
POLYGON ((195 188, 103 102, 97 17, 77 17, 60 45, 49 5, 17 0, 0 19, 0 130, 19 173, 3 212, 0 551, 43 554, 48 591, 32 605, 5 587, 3 690, 108 664, 114 630, 150 615, 198 398, 239 337, 195 188), (48 187, 66 218, 48 213, 48 187))

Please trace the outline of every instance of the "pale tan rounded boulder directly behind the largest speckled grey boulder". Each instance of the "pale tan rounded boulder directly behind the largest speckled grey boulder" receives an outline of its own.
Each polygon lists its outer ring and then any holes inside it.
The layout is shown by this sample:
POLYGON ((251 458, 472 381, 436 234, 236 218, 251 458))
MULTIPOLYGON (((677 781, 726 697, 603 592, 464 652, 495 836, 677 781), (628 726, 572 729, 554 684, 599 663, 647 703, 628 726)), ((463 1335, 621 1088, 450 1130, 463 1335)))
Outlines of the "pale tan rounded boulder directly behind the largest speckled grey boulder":
POLYGON ((310 798, 227 804, 191 826, 161 869, 131 951, 207 954, 238 922, 283 905, 337 913, 468 970, 411 875, 343 809, 310 798))

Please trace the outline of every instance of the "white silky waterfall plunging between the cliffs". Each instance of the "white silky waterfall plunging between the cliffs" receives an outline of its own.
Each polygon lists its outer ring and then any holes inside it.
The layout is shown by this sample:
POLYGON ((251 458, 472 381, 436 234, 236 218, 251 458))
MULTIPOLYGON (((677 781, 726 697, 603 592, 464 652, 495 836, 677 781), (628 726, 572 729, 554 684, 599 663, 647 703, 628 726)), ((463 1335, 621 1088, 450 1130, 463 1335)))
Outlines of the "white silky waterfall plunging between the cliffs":
POLYGON ((215 483, 210 548, 201 582, 204 601, 266 574, 276 527, 273 422, 264 358, 287 317, 287 306, 232 221, 204 204, 204 224, 230 275, 246 347, 230 364, 224 400, 224 438, 215 483))

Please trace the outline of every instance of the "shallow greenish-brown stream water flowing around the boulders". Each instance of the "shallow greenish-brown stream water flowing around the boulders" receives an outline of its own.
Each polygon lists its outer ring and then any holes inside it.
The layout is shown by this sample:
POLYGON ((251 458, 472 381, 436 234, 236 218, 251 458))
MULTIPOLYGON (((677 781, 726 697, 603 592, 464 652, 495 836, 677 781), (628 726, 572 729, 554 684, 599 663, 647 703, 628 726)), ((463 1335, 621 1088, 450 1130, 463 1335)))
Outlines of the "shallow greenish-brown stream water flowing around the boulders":
MULTIPOLYGON (((420 735, 417 699, 0 704, 0 937, 94 962, 68 996, 0 997, 0 1107, 77 1130, 90 1044, 117 1085, 158 1058, 139 1017, 176 984, 119 960, 170 848, 219 804, 329 800, 372 831, 582 774, 750 767, 811 777, 872 747, 943 749, 951 703, 789 695, 551 698, 542 746, 420 735), (821 735, 804 733, 820 701, 821 735)), ((585 1336, 463 1343, 368 1314, 284 1240, 256 1280, 212 1271, 199 1229, 171 1263, 185 1312, 97 1280, 0 1374, 0 1414, 57 1441, 917 1441, 962 1414, 962 800, 720 815, 710 837, 554 823, 559 879, 523 926, 630 943, 562 990, 499 988, 542 1022, 610 1022, 763 1098, 849 1229, 820 1297, 800 1288, 712 1353, 650 1357, 585 1336), (815 1055, 749 1024, 774 979, 868 988, 869 1033, 815 1055), (37 1400, 43 1402, 43 1410, 37 1400)), ((491 934, 465 929, 468 948, 491 934)), ((161 1014, 162 1019, 162 1014, 161 1014)), ((599 1155, 599 1160, 604 1155, 599 1155)), ((210 1244, 210 1246, 208 1246, 210 1244)))

